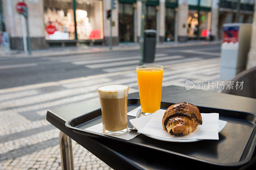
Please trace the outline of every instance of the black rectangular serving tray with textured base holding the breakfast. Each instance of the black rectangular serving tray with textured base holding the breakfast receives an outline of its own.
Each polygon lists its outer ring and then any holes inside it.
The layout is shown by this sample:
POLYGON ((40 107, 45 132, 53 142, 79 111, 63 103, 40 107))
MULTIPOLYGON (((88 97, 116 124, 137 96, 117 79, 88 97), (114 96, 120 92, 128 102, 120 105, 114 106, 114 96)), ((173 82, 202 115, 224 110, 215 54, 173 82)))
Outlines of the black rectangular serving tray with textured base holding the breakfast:
MULTIPOLYGON (((167 109, 174 103, 161 102, 161 108, 167 109)), ((128 99, 128 112, 140 105, 140 99, 128 99)), ((219 133, 219 140, 201 140, 190 143, 165 142, 149 138, 143 134, 131 140, 116 138, 84 130, 102 122, 101 109, 68 120, 65 125, 76 133, 94 138, 108 138, 131 145, 148 147, 171 155, 179 155, 189 159, 195 159, 204 163, 225 167, 237 167, 244 165, 251 158, 256 144, 255 123, 256 115, 236 110, 225 110, 197 106, 201 113, 219 113, 220 120, 227 121, 225 128, 219 133)), ((128 127, 132 128, 127 116, 128 127)))

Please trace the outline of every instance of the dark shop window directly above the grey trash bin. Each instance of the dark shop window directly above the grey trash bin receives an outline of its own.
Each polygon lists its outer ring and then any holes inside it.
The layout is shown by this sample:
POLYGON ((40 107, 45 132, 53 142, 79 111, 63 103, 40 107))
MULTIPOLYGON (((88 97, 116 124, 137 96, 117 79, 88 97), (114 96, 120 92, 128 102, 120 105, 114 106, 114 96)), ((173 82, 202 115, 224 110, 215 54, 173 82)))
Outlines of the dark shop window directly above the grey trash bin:
POLYGON ((156 7, 155 6, 147 5, 146 7, 145 29, 156 30, 156 7))

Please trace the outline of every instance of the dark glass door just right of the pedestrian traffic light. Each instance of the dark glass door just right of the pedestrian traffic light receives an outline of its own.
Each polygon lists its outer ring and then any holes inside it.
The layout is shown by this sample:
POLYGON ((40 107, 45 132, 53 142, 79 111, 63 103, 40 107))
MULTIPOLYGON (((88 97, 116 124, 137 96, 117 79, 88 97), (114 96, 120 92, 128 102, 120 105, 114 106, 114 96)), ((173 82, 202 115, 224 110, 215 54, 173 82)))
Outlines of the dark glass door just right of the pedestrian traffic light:
POLYGON ((119 41, 133 42, 133 16, 132 4, 119 3, 119 41))

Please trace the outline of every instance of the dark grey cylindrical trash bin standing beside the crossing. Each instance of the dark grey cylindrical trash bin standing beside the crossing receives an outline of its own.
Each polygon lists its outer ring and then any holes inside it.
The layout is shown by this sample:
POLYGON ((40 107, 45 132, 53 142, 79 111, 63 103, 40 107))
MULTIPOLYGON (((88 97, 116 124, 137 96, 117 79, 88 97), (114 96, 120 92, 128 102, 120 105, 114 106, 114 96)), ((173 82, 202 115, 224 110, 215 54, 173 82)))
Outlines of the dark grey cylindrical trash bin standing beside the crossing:
POLYGON ((156 30, 144 31, 143 61, 152 63, 156 52, 156 30))

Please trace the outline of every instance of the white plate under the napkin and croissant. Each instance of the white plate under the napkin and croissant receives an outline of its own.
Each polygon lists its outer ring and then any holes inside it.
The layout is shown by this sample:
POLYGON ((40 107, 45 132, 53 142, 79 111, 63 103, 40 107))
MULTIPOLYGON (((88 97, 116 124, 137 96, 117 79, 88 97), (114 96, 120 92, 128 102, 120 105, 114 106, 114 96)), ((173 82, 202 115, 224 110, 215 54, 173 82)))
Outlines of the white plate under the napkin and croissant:
MULTIPOLYGON (((130 119, 130 122, 131 122, 132 126, 135 127, 135 129, 139 130, 141 128, 144 128, 144 126, 149 122, 149 120, 151 119, 152 116, 153 115, 148 115, 148 116, 142 116, 142 117, 139 117, 136 119, 130 119)), ((219 120, 218 132, 220 132, 226 126, 226 124, 227 124, 226 121, 219 120)), ((159 137, 147 135, 147 134, 144 134, 144 135, 146 135, 150 138, 168 141, 168 142, 196 142, 196 141, 204 140, 204 139, 166 139, 166 138, 159 138, 159 137)))

